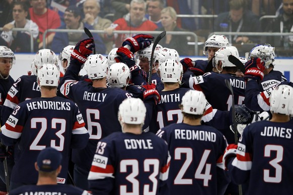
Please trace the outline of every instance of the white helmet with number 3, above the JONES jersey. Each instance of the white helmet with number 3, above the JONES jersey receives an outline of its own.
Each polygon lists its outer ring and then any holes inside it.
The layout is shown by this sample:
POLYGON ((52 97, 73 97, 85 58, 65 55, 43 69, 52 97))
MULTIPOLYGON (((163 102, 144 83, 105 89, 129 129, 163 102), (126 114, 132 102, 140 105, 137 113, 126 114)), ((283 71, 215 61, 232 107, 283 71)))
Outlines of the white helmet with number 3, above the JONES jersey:
POLYGON ((284 115, 293 114, 293 87, 281 84, 274 88, 270 95, 270 111, 284 115))

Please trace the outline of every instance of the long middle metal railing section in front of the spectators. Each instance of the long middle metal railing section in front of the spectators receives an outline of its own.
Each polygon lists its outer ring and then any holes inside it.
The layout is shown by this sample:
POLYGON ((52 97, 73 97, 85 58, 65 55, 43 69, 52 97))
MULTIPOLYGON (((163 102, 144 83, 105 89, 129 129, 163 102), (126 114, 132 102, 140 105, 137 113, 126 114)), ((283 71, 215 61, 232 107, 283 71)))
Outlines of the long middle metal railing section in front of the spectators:
MULTIPOLYGON (((43 37, 46 37, 48 32, 61 32, 61 33, 68 33, 68 32, 72 32, 72 33, 84 33, 84 30, 72 30, 72 29, 47 29, 44 34, 43 37)), ((91 33, 99 33, 99 34, 104 34, 105 31, 104 30, 91 30, 91 33)), ((117 34, 150 34, 150 35, 159 35, 161 32, 160 31, 113 31, 113 33, 117 33, 117 34)), ((188 31, 182 31, 182 32, 178 32, 178 31, 168 31, 167 34, 171 34, 171 35, 189 35, 189 36, 193 36, 194 37, 194 54, 198 53, 198 37, 195 33, 193 32, 188 32, 188 31)), ((65 47, 65 46, 64 46, 65 47)), ((46 43, 45 41, 43 42, 43 48, 46 48, 46 43)))

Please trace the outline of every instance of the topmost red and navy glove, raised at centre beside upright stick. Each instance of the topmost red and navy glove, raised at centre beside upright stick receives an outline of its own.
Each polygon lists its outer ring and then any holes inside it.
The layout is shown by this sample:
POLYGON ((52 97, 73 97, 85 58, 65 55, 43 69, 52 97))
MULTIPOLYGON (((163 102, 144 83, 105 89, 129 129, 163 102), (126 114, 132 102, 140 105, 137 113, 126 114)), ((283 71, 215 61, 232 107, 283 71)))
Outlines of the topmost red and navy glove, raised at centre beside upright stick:
POLYGON ((152 44, 152 40, 154 39, 151 35, 138 34, 133 37, 127 38, 122 46, 127 46, 132 53, 137 52, 138 50, 149 47, 152 44))

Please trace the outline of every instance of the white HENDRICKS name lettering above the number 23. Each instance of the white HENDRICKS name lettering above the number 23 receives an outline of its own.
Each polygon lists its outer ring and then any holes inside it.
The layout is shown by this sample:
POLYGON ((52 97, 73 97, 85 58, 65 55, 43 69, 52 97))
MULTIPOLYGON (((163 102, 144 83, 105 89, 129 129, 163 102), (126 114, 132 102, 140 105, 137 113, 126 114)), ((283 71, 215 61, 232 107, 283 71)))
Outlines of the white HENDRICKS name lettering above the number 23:
POLYGON ((59 110, 59 111, 71 110, 69 102, 38 101, 38 102, 30 102, 26 106, 29 111, 34 109, 48 109, 48 110, 59 110))

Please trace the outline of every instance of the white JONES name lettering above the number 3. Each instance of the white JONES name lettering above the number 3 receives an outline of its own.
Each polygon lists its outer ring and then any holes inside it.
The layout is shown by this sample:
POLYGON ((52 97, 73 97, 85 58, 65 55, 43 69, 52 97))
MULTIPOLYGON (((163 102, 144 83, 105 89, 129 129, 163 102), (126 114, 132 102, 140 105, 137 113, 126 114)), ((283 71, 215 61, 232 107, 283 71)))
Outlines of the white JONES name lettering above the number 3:
POLYGON ((267 137, 281 137, 291 139, 292 129, 286 129, 283 127, 264 127, 264 130, 260 132, 261 136, 267 137))

